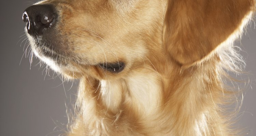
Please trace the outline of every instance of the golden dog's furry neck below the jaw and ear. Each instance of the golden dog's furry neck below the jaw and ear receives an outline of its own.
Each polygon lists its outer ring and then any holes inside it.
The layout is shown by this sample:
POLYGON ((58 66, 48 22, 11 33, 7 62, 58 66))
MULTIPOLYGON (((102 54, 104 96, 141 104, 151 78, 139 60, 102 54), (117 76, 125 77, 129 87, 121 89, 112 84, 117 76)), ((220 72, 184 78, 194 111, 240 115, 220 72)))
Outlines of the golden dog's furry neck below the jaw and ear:
POLYGON ((79 130, 86 130, 88 135, 118 135, 124 131, 128 135, 134 135, 134 132, 146 135, 145 130, 151 130, 150 135, 154 132, 156 135, 222 133, 219 130, 222 121, 215 110, 219 93, 211 89, 220 84, 217 79, 209 79, 217 74, 210 70, 214 66, 185 71, 177 67, 168 73, 143 67, 113 81, 84 77, 77 98, 83 122, 77 122, 77 127, 83 127, 79 130), (207 83, 207 79, 215 82, 207 83), (216 117, 208 116, 212 112, 216 117), (208 128, 209 123, 215 123, 216 127, 208 128), (187 129, 180 130, 184 127, 177 124, 186 125, 187 129), (120 132, 111 130, 113 128, 120 132), (162 131, 165 129, 169 131, 162 131))

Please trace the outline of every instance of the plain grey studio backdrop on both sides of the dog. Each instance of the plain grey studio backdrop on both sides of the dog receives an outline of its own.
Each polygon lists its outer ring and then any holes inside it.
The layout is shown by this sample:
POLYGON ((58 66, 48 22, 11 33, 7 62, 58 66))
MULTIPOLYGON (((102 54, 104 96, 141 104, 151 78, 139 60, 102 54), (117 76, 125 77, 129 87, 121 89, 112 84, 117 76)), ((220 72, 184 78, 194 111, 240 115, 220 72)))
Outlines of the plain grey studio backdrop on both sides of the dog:
MULTIPOLYGON (((37 1, 0 1, 0 136, 57 136, 61 130, 66 130, 65 103, 71 105, 74 102, 77 81, 69 90, 72 83, 65 82, 63 85, 60 78, 52 79, 51 73, 51 76, 45 77, 44 67, 35 66, 37 60, 33 60, 31 69, 25 55, 21 60, 25 44, 25 41, 22 42, 24 38, 20 37, 25 34, 22 13, 34 2, 37 1)), ((247 127, 250 136, 256 136, 254 27, 252 23, 241 41, 246 71, 251 74, 240 112, 242 117, 238 122, 238 125, 247 127)))

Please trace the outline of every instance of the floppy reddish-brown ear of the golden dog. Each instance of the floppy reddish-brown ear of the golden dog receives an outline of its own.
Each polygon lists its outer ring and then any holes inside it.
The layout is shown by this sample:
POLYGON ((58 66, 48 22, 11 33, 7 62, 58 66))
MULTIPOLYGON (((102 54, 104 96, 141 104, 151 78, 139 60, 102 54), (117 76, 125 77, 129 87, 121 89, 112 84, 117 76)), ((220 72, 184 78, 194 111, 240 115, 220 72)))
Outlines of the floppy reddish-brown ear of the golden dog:
POLYGON ((243 27, 254 7, 254 0, 169 0, 164 49, 181 65, 200 61, 243 27))

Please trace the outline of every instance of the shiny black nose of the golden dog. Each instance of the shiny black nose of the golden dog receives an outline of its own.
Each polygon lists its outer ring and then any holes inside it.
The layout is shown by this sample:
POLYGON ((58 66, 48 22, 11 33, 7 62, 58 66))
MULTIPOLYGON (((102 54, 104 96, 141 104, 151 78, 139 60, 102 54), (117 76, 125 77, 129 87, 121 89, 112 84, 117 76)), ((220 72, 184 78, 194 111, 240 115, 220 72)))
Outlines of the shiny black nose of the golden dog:
POLYGON ((54 26, 57 14, 52 5, 33 5, 24 11, 22 18, 27 22, 27 32, 38 36, 54 26))

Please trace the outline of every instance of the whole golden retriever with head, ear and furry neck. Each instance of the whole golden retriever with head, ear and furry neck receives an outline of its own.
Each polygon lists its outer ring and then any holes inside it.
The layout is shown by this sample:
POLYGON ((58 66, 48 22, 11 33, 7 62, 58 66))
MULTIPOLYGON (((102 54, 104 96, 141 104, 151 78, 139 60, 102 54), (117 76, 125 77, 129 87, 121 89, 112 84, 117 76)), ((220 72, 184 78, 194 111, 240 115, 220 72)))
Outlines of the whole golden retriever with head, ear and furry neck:
MULTIPOLYGON (((234 136, 239 40, 254 0, 44 0, 33 54, 79 79, 67 136, 234 136)), ((239 98, 238 98, 239 99, 239 98)))

